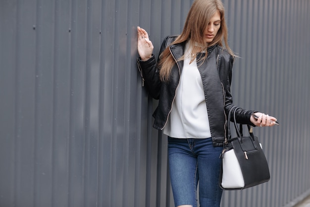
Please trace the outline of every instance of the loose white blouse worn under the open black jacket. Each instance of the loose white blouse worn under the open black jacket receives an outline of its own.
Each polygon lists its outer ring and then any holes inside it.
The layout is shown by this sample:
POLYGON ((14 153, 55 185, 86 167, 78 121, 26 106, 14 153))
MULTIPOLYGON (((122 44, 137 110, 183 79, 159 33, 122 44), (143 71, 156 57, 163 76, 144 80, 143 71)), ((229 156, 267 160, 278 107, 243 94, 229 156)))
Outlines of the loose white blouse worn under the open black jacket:
MULTIPOLYGON (((189 44, 185 51, 188 52, 189 44)), ((210 138, 203 81, 197 61, 184 60, 176 96, 163 133, 172 138, 210 138)))

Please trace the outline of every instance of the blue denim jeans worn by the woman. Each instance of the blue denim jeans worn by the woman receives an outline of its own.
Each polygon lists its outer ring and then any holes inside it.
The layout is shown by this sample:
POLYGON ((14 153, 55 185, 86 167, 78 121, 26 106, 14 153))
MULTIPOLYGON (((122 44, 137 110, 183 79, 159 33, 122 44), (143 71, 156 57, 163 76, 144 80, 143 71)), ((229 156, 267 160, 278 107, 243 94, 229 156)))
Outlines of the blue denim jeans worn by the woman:
POLYGON ((170 179, 176 207, 219 207, 222 190, 218 185, 223 147, 214 147, 211 138, 170 138, 168 156, 170 179))

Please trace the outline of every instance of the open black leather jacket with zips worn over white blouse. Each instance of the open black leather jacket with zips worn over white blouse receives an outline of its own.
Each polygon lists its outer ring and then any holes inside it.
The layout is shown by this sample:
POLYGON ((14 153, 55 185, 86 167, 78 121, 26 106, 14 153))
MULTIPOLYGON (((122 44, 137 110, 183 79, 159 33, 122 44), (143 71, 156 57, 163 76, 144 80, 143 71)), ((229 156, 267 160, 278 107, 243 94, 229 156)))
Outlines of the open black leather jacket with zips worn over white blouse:
MULTIPOLYGON (((176 37, 168 36, 164 39, 159 55, 169 46, 174 60, 179 60, 183 56, 185 42, 170 45, 176 37)), ((201 55, 203 54, 198 54, 197 57, 201 55)), ((153 127, 157 130, 163 130, 171 112, 172 102, 175 98, 183 68, 183 61, 178 61, 173 66, 168 82, 160 81, 159 70, 156 65, 154 55, 145 62, 138 58, 138 68, 145 86, 153 98, 159 99, 158 106, 153 114, 155 118, 153 127)), ((233 57, 225 49, 214 45, 207 48, 207 59, 203 64, 198 61, 197 66, 203 81, 213 145, 221 146, 226 137, 225 126, 227 124, 227 115, 229 109, 233 107, 232 96, 230 94, 233 57)), ((254 112, 239 108, 236 111, 237 122, 253 125, 250 122, 250 117, 254 112)))

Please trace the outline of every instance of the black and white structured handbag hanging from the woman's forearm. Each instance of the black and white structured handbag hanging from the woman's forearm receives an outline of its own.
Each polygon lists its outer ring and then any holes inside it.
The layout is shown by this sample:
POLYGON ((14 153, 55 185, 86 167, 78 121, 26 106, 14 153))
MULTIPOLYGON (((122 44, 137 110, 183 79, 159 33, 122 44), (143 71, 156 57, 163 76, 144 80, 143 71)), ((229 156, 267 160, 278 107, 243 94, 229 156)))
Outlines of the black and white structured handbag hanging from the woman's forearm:
POLYGON ((269 167, 252 127, 247 125, 249 137, 243 136, 242 125, 236 123, 236 110, 233 107, 228 115, 227 134, 221 153, 222 168, 219 185, 223 190, 242 190, 270 179, 269 167), (230 118, 233 115, 236 138, 231 138, 230 118))

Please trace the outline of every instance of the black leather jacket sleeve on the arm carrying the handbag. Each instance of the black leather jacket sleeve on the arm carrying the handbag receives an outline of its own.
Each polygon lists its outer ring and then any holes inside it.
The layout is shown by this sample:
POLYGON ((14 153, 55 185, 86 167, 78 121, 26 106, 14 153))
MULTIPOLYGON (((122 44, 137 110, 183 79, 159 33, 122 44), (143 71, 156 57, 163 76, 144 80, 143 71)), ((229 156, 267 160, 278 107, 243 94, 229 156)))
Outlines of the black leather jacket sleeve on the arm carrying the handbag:
MULTIPOLYGON (((230 85, 232 81, 232 67, 233 67, 233 57, 230 56, 229 58, 229 72, 227 76, 227 85, 226 85, 226 90, 225 90, 225 113, 228 115, 229 110, 234 106, 233 105, 233 100, 232 100, 232 95, 230 93, 230 85)), ((247 125, 252 125, 255 126, 251 121, 250 118, 253 113, 256 111, 253 110, 245 110, 240 107, 238 107, 236 111, 236 121, 239 124, 247 124, 247 125)), ((230 121, 233 121, 233 117, 230 121)))

